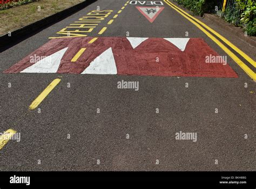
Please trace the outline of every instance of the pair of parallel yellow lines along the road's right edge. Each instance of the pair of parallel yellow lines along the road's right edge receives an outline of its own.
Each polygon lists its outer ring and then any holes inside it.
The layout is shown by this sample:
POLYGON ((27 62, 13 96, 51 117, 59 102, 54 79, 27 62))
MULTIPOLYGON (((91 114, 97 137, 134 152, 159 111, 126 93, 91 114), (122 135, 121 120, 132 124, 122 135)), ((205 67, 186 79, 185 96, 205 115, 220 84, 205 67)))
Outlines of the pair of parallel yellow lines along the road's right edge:
POLYGON ((215 38, 210 32, 212 32, 215 36, 217 36, 219 39, 221 39, 224 43, 226 43, 228 46, 230 46, 235 52, 239 53, 242 57, 244 57, 251 65, 256 68, 256 63, 255 61, 250 58, 246 53, 242 52, 237 46, 232 44, 229 40, 227 40, 225 37, 221 36, 218 32, 214 31, 211 29, 209 26, 207 26, 205 23, 199 21, 197 18, 194 18, 184 10, 180 9, 178 6, 174 5, 171 3, 169 0, 164 0, 164 2, 171 6, 172 9, 176 10, 179 12, 180 15, 188 19, 191 23, 197 26, 201 31, 203 31, 208 37, 210 37, 216 44, 220 46, 221 49, 223 49, 228 56, 230 56, 235 63, 237 63, 242 70, 244 70, 248 76, 250 76, 254 81, 256 81, 256 73, 252 71, 242 60, 240 60, 232 51, 230 51, 223 43, 220 42, 217 38, 215 38), (204 27, 204 28, 203 28, 204 27), (210 32, 208 32, 210 31, 210 32))

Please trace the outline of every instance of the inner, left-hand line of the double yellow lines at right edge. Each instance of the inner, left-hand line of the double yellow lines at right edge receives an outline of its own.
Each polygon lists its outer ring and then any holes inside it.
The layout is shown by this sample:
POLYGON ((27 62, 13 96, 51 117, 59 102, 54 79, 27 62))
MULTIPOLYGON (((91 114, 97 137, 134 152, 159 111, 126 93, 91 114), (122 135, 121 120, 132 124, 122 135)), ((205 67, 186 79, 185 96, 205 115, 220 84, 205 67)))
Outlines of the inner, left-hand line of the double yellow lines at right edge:
POLYGON ((195 21, 193 21, 191 18, 187 17, 185 14, 183 14, 183 12, 179 11, 177 8, 175 8, 174 6, 172 6, 168 0, 164 0, 164 2, 171 6, 171 8, 173 8, 174 10, 176 10, 177 12, 179 12, 180 15, 182 15, 183 17, 185 17, 186 19, 188 19, 188 21, 190 21, 191 23, 193 23, 194 25, 197 26, 197 28, 199 28, 201 31, 203 31, 208 37, 210 37, 216 44, 218 44, 220 46, 221 49, 223 49, 228 56, 230 56, 234 62, 236 62, 240 68, 242 70, 244 70, 248 76, 250 76, 253 80, 256 80, 256 74, 245 64, 243 63, 233 52, 231 52, 229 49, 226 48, 226 46, 221 43, 217 38, 215 38, 213 35, 211 35, 211 33, 209 33, 208 31, 206 31, 201 25, 199 25, 198 23, 196 23, 195 21))

